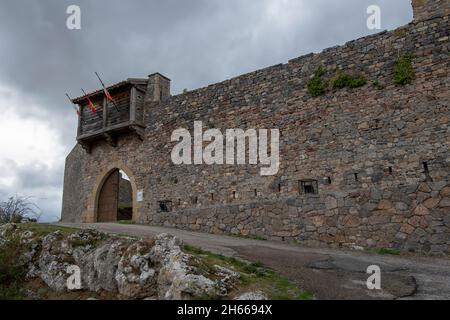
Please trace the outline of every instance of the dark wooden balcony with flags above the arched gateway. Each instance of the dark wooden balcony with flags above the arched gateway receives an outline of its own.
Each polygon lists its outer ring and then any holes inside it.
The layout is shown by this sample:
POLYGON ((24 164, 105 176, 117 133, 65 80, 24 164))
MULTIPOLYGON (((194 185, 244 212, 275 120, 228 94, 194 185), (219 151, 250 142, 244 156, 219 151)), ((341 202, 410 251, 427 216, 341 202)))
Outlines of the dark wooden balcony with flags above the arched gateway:
POLYGON ((80 106, 77 141, 90 153, 92 145, 106 140, 117 145, 117 137, 136 134, 141 140, 144 135, 144 98, 146 79, 128 79, 108 88, 114 103, 108 102, 103 90, 73 100, 80 106), (89 98, 97 112, 89 108, 89 98))

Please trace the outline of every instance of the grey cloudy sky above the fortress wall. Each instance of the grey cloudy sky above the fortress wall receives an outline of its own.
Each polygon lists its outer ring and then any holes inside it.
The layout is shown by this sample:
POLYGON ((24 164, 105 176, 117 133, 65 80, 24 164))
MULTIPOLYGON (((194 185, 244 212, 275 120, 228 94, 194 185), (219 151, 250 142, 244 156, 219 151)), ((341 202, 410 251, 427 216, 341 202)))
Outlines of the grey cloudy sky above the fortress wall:
POLYGON ((172 93, 412 19, 411 0, 0 0, 0 201, 32 196, 45 221, 60 216, 64 159, 76 115, 64 94, 161 72, 172 93), (81 30, 66 9, 81 8, 81 30))

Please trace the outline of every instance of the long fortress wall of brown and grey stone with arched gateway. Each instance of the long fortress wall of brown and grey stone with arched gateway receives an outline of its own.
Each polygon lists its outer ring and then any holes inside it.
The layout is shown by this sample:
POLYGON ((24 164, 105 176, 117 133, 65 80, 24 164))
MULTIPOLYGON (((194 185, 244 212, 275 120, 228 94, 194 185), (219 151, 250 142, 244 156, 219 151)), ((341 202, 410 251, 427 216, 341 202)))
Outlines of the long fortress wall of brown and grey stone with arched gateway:
POLYGON ((287 64, 147 99, 144 141, 123 136, 115 148, 99 143, 90 155, 79 146, 72 152, 63 220, 95 221, 99 183, 118 167, 143 191, 134 214, 141 223, 315 246, 449 253, 449 34, 448 15, 416 19, 287 64), (415 80, 396 86, 394 64, 407 53, 415 55, 415 80), (325 78, 343 70, 364 73, 368 83, 312 98, 307 83, 319 66, 325 78), (222 132, 279 129, 279 173, 174 165, 171 134, 192 132, 194 121, 222 132), (318 194, 302 193, 305 180, 317 181, 318 194), (67 196, 72 181, 76 199, 67 196), (169 201, 170 212, 162 212, 160 202, 169 201), (75 202, 82 215, 71 209, 75 202))

